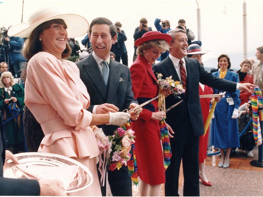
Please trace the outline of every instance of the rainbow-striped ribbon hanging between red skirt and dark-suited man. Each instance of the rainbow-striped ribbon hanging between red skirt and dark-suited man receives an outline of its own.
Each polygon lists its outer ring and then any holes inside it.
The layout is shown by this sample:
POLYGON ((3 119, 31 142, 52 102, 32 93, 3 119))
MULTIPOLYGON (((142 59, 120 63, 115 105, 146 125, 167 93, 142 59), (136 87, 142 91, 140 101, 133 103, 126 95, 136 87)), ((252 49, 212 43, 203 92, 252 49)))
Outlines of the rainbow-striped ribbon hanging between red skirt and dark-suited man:
POLYGON ((160 131, 161 131, 161 140, 163 144, 164 170, 166 170, 170 164, 170 158, 172 157, 172 152, 170 146, 169 132, 164 118, 163 120, 161 120, 160 131))

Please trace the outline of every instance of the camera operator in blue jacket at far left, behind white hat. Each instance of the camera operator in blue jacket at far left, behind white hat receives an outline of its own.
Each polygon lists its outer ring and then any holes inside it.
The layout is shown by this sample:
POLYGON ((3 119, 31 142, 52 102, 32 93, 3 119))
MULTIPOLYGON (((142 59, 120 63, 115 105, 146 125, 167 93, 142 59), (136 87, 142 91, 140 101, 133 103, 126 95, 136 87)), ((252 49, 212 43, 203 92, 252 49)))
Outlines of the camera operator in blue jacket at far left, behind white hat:
POLYGON ((22 55, 22 48, 24 46, 24 38, 21 37, 4 37, 8 42, 8 55, 11 64, 14 66, 14 71, 17 77, 20 77, 21 69, 26 68, 27 60, 22 55))

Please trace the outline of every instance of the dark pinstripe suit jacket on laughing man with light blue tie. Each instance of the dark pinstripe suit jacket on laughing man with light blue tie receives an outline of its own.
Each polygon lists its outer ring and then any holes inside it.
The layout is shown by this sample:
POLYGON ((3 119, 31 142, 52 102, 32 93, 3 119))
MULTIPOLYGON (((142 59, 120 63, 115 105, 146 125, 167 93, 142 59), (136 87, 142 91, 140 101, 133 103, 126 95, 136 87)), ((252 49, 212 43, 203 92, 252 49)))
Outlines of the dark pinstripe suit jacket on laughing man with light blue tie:
MULTIPOLYGON (((103 103, 111 103, 120 111, 128 109, 130 103, 138 103, 131 90, 131 74, 127 66, 110 59, 108 88, 106 88, 99 66, 92 54, 76 64, 79 68, 80 79, 90 95, 88 111, 92 112, 94 105, 103 103)), ((101 125, 101 127, 106 136, 112 135, 114 129, 118 128, 114 125, 101 125)))

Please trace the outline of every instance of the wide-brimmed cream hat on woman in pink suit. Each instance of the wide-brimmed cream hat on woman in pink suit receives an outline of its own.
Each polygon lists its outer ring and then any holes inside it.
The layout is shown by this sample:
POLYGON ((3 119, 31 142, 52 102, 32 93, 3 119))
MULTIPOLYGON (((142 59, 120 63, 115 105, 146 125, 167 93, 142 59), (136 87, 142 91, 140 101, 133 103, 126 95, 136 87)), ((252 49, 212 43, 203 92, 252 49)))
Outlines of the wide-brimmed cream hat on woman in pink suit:
POLYGON ((89 22, 77 14, 62 14, 57 8, 42 8, 31 14, 28 23, 13 25, 7 32, 8 36, 29 37, 31 32, 40 24, 52 20, 62 19, 67 24, 68 38, 80 37, 88 32, 89 22))

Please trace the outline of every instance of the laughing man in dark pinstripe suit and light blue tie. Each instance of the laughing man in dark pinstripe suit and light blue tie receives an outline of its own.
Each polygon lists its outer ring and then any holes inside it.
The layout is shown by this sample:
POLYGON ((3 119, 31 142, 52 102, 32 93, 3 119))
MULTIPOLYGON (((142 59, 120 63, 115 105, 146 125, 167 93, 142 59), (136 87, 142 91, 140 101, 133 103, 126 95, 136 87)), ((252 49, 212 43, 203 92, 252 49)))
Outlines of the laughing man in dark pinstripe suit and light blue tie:
MULTIPOLYGON (((110 49, 117 39, 117 29, 107 18, 96 18, 89 28, 89 39, 93 48, 92 54, 78 61, 80 78, 90 95, 92 113, 108 113, 134 108, 138 102, 133 97, 129 68, 110 58, 110 49), (106 60, 107 62, 105 62, 106 60), (108 79, 105 81, 104 66, 109 67, 108 79)), ((136 120, 138 115, 131 114, 136 120)), ((106 136, 112 135, 118 128, 113 125, 100 125, 106 136)), ((113 196, 132 196, 131 179, 128 167, 119 170, 108 170, 108 181, 113 196)), ((102 195, 106 195, 102 188, 102 195)))

